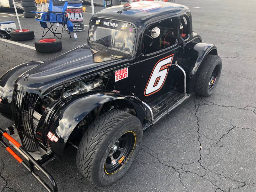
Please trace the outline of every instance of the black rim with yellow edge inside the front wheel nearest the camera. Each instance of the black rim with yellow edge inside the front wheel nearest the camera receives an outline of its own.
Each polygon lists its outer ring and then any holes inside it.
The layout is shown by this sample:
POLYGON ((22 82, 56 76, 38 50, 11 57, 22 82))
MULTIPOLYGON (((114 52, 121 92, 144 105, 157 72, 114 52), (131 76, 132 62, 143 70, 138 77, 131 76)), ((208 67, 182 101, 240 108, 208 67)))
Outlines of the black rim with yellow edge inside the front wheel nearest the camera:
POLYGON ((104 170, 107 175, 120 171, 132 156, 136 144, 136 136, 132 131, 125 132, 111 147, 105 161, 104 170))

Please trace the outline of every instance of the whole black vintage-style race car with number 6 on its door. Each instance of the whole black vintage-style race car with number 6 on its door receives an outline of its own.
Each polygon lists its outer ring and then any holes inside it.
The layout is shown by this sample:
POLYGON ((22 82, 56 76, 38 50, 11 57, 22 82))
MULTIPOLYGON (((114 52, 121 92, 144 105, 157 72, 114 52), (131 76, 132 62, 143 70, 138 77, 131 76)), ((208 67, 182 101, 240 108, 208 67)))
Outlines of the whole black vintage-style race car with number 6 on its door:
POLYGON ((65 160, 69 146, 85 178, 109 185, 128 171, 142 131, 192 92, 211 95, 221 67, 216 47, 193 32, 186 6, 140 1, 104 9, 90 20, 87 44, 1 77, 0 111, 15 123, 1 137, 20 155, 1 143, 47 191, 57 186, 43 165, 65 160))

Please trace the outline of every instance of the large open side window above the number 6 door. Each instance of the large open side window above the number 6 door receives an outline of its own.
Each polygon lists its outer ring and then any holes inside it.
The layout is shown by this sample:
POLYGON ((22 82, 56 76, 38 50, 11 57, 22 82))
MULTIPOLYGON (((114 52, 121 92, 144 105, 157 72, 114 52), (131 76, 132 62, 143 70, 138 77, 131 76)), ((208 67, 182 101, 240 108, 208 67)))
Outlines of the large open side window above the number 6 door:
POLYGON ((172 18, 149 26, 143 37, 142 53, 146 55, 173 46, 177 41, 178 23, 176 18, 172 18), (151 34, 154 28, 160 29, 160 35, 155 38, 151 34))

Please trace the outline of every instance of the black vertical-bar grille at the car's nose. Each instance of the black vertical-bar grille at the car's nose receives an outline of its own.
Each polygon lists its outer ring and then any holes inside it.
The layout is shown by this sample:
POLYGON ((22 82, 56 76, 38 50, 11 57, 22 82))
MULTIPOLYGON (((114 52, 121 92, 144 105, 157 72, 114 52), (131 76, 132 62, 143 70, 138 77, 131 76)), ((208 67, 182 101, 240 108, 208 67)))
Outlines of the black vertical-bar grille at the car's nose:
POLYGON ((36 124, 33 114, 39 96, 36 93, 14 90, 12 114, 22 146, 28 151, 38 151, 35 140, 36 124))

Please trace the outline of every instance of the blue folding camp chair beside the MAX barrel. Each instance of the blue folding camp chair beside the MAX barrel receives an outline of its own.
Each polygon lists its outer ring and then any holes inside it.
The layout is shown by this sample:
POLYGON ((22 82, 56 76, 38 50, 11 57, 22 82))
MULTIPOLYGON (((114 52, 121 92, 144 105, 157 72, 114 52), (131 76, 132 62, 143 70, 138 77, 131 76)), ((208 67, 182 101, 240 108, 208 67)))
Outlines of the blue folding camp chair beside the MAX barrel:
POLYGON ((63 33, 63 28, 68 32, 70 38, 70 32, 73 31, 73 24, 71 23, 70 20, 68 20, 68 16, 66 13, 66 9, 68 6, 67 1, 55 1, 55 0, 50 0, 48 11, 47 12, 35 12, 31 11, 33 13, 43 13, 41 16, 41 19, 38 18, 36 14, 36 20, 40 22, 40 25, 42 28, 47 28, 48 30, 46 33, 43 31, 42 38, 48 33, 48 31, 52 32, 54 36, 56 36, 58 39, 61 39, 62 33, 63 33), (47 23, 50 23, 50 27, 47 26, 47 23), (56 34, 56 30, 58 28, 58 25, 55 30, 53 30, 53 25, 55 23, 59 23, 62 25, 62 30, 61 30, 61 37, 59 38, 56 34), (68 30, 66 29, 66 25, 68 27, 68 30))

